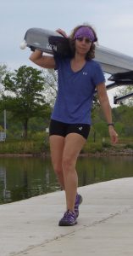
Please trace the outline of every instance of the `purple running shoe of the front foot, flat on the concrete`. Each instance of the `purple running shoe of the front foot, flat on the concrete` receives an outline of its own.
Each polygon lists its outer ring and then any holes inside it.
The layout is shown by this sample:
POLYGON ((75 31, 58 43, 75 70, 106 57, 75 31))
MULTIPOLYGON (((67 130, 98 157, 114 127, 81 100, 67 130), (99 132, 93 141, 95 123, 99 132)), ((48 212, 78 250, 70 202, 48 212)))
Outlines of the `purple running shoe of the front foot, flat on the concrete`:
POLYGON ((67 210, 64 212, 64 217, 60 219, 58 226, 74 226, 77 224, 75 212, 67 210))

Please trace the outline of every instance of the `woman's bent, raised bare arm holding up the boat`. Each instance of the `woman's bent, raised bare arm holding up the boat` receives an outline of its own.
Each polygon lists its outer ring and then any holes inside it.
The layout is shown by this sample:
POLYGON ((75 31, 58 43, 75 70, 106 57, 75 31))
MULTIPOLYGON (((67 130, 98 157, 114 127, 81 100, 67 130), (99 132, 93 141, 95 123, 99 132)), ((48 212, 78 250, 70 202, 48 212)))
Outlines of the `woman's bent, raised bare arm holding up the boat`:
POLYGON ((40 67, 55 68, 54 57, 43 55, 41 50, 36 49, 34 52, 32 52, 29 59, 40 67))

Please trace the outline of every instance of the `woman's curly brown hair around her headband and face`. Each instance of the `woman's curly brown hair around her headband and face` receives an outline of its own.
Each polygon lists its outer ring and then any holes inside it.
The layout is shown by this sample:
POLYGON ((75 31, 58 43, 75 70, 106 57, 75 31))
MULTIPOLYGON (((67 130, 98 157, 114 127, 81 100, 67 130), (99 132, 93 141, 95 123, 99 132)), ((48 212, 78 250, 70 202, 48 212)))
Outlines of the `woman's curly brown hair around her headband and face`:
POLYGON ((95 58, 95 44, 94 43, 97 42, 97 33, 95 32, 95 30, 90 25, 80 25, 80 26, 76 26, 73 29, 73 31, 71 32, 71 34, 69 36, 69 44, 70 44, 71 52, 72 52, 72 55, 74 56, 75 55, 75 39, 74 39, 75 32, 77 32, 77 30, 80 27, 89 27, 89 28, 91 28, 91 31, 94 33, 94 36, 95 36, 95 40, 94 40, 94 42, 91 43, 91 48, 86 54, 86 61, 89 61, 89 60, 95 58))

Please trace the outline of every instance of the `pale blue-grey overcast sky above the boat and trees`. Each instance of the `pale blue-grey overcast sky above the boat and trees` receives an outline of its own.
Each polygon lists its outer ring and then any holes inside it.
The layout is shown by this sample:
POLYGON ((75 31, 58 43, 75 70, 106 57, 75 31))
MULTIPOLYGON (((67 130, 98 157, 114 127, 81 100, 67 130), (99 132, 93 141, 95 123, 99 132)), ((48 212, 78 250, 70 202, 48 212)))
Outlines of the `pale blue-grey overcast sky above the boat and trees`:
POLYGON ((30 49, 19 49, 30 27, 69 34, 84 22, 94 26, 99 44, 133 56, 133 0, 0 0, 0 64, 33 67, 30 49))

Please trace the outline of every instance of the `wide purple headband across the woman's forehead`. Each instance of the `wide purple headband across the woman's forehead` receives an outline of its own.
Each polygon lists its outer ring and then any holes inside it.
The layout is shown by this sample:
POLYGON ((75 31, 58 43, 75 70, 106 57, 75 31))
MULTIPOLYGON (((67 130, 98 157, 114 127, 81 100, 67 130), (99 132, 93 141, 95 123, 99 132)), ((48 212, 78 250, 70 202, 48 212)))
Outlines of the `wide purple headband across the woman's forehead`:
POLYGON ((95 35, 92 32, 91 28, 88 26, 81 26, 76 32, 74 39, 77 38, 89 38, 91 42, 95 41, 95 35))

